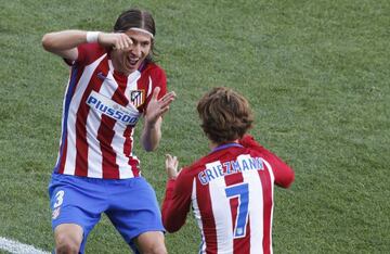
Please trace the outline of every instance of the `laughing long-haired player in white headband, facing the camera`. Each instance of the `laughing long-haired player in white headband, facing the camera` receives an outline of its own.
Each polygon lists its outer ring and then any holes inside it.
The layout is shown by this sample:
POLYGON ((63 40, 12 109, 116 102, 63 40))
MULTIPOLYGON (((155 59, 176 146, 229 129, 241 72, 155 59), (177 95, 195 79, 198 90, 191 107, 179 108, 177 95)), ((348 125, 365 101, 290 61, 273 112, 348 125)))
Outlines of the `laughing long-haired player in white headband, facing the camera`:
POLYGON ((56 253, 83 253, 102 213, 134 252, 167 253, 155 192, 133 153, 140 117, 142 145, 153 151, 176 98, 153 62, 155 35, 153 16, 131 9, 113 33, 62 30, 42 38, 43 48, 70 66, 49 186, 56 253))

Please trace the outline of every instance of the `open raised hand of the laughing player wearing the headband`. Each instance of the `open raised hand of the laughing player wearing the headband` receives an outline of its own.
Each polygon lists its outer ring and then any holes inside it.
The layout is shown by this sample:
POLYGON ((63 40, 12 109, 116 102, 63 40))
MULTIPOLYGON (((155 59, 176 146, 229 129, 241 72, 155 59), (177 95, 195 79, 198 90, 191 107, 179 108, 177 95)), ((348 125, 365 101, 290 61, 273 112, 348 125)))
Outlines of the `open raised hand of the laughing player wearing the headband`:
POLYGON ((152 99, 147 105, 145 119, 148 124, 155 124, 157 119, 169 110, 169 104, 176 99, 174 91, 168 92, 160 99, 157 99, 159 92, 160 88, 156 87, 153 90, 152 99))

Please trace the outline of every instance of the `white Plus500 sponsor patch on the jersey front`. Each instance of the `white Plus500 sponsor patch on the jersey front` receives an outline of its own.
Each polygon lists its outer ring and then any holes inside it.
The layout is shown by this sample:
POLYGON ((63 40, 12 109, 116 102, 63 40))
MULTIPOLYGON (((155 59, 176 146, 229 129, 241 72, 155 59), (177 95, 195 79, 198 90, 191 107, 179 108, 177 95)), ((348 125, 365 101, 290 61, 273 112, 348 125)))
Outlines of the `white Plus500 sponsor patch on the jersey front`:
POLYGON ((109 116, 125 125, 135 125, 140 118, 140 112, 125 107, 112 99, 92 91, 87 99, 87 104, 94 111, 109 116))

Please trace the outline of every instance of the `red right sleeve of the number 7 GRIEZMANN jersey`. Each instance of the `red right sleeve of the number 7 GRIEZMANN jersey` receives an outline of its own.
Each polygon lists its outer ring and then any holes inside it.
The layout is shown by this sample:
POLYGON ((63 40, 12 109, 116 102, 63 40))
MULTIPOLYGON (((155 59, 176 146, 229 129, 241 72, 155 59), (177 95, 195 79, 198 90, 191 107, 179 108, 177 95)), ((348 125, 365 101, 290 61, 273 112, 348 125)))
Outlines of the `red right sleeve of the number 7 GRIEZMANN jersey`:
POLYGON ((278 156, 260 145, 253 137, 246 135, 239 140, 239 143, 245 148, 253 149, 260 152, 263 158, 271 164, 272 172, 275 177, 275 183, 283 188, 288 188, 295 179, 295 173, 285 162, 278 156))

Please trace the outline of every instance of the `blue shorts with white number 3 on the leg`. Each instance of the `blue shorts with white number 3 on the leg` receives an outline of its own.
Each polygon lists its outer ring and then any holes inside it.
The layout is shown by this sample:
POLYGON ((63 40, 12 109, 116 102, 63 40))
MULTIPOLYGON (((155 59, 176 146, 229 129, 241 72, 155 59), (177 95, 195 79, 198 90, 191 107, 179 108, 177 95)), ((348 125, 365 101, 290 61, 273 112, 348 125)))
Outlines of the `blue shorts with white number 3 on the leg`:
POLYGON ((61 224, 83 229, 80 253, 102 213, 133 251, 132 240, 139 234, 165 231, 156 193, 143 177, 115 180, 53 174, 49 195, 53 230, 61 224))

